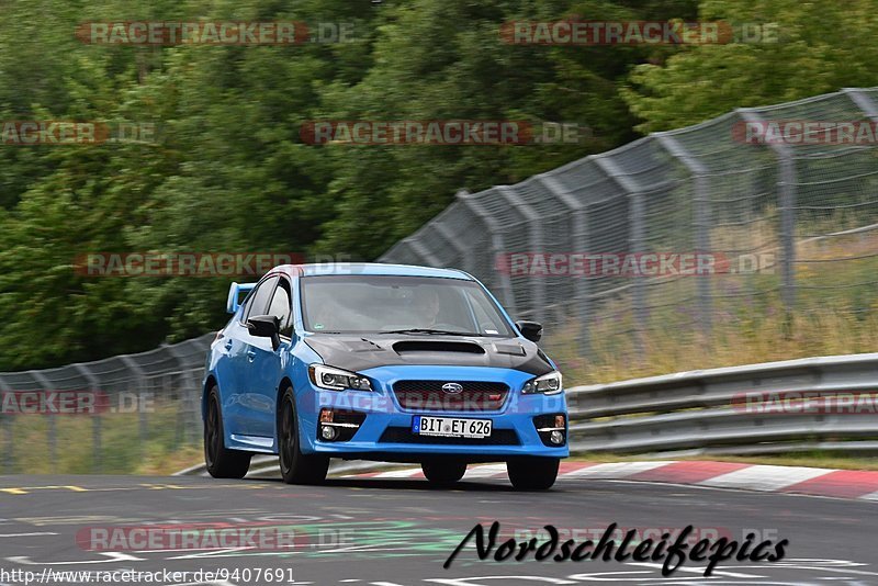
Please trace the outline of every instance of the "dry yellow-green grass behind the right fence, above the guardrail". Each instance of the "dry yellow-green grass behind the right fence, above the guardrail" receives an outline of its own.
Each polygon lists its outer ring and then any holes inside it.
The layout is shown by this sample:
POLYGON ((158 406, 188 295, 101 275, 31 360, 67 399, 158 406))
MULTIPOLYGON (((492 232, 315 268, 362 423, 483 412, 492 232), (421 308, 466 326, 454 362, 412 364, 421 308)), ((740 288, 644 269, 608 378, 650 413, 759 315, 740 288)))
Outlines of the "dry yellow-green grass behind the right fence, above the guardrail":
POLYGON ((551 337, 548 350, 569 386, 876 351, 878 232, 802 241, 797 258, 802 262, 796 266, 791 314, 781 298, 779 269, 679 278, 646 288, 645 304, 652 308, 645 323, 633 319, 631 292, 624 291, 593 308, 588 352, 579 324, 570 319, 551 337), (713 296, 709 333, 697 306, 699 279, 710 279, 713 296))

